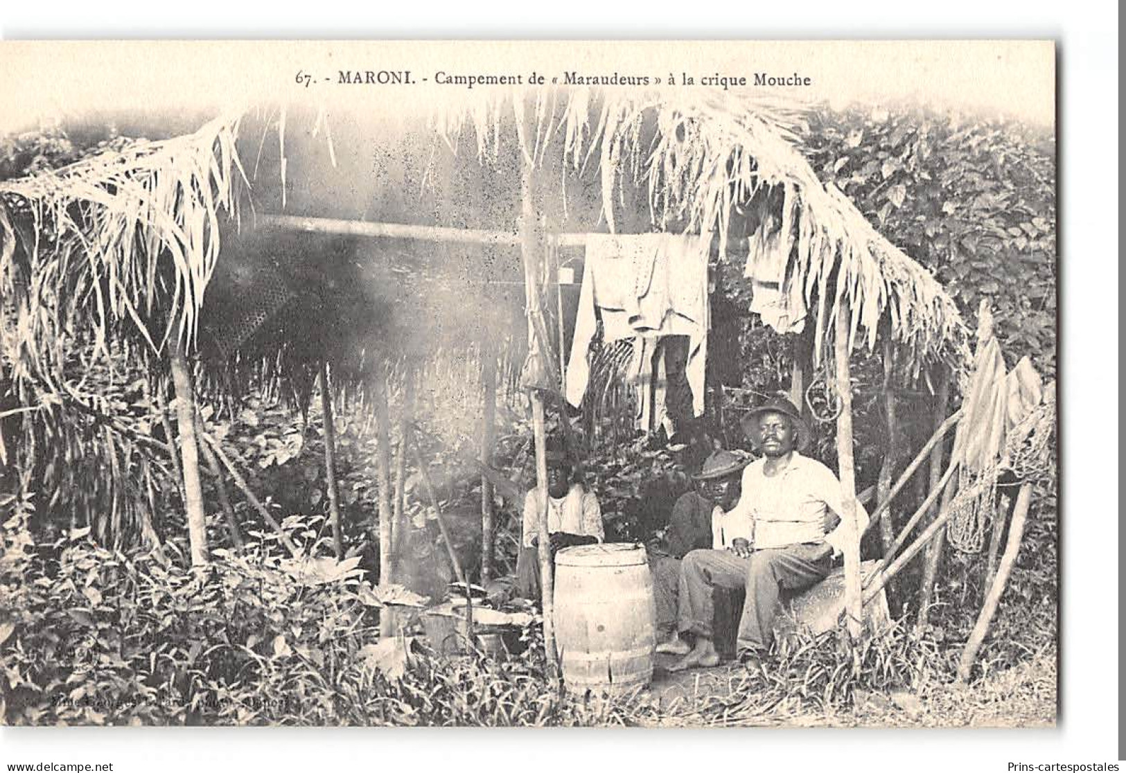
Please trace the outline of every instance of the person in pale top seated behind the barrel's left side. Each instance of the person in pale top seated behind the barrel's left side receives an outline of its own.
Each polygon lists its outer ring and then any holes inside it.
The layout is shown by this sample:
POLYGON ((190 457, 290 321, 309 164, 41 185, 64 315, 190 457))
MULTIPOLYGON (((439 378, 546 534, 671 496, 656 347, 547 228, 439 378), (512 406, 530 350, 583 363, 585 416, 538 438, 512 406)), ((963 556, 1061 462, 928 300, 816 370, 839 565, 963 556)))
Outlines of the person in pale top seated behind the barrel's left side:
MULTIPOLYGON (((552 563, 555 552, 577 545, 593 545, 605 538, 602 509, 593 492, 573 480, 574 466, 561 443, 547 448, 547 533, 552 563)), ((516 593, 539 599, 539 501, 538 489, 524 497, 524 529, 516 560, 516 593)))

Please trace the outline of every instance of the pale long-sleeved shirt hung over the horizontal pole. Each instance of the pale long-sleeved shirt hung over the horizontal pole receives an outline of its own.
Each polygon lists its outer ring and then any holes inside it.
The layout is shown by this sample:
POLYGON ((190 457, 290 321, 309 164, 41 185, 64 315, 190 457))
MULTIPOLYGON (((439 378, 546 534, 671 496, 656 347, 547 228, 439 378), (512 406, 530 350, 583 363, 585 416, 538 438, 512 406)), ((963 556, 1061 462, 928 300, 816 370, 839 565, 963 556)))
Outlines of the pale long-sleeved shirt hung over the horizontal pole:
POLYGON ((571 405, 578 406, 587 392, 590 379, 587 354, 601 317, 607 342, 634 336, 687 335, 686 372, 692 390, 692 411, 697 416, 704 413, 711 241, 711 235, 662 233, 591 234, 587 239, 587 262, 566 374, 566 398, 571 405))

